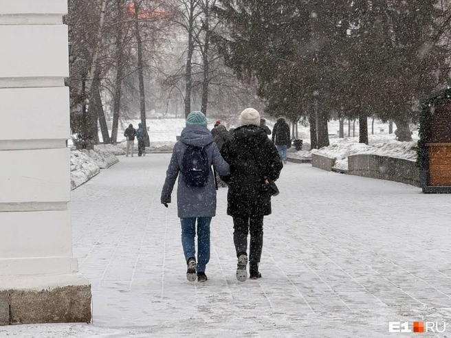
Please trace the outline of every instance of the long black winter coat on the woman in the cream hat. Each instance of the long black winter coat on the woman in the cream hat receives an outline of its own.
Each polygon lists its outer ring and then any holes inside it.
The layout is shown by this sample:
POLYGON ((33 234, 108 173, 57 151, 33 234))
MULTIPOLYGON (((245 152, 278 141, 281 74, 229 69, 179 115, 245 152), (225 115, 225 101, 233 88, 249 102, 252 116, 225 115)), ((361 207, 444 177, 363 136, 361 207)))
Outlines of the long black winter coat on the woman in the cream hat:
POLYGON ((271 214, 271 196, 264 193, 265 177, 276 181, 283 168, 274 143, 259 126, 236 128, 221 155, 230 164, 227 214, 266 216, 271 214))

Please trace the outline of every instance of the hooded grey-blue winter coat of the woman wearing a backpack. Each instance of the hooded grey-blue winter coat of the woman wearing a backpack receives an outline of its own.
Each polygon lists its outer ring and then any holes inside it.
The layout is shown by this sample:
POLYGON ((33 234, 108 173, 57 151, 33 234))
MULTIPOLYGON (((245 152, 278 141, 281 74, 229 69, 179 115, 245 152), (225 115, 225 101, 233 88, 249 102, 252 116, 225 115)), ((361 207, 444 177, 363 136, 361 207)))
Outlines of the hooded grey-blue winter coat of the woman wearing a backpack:
POLYGON ((187 126, 181 132, 180 141, 174 146, 173 156, 166 172, 161 202, 170 203, 170 195, 173 192, 175 180, 179 177, 177 185, 177 213, 179 218, 213 217, 216 215, 216 186, 214 185, 212 170, 210 169, 210 177, 208 177, 207 184, 204 187, 189 187, 184 183, 181 160, 187 144, 205 147, 209 166, 213 166, 222 176, 230 174, 229 165, 219 153, 210 131, 198 124, 187 126))

